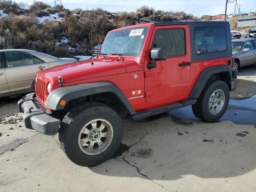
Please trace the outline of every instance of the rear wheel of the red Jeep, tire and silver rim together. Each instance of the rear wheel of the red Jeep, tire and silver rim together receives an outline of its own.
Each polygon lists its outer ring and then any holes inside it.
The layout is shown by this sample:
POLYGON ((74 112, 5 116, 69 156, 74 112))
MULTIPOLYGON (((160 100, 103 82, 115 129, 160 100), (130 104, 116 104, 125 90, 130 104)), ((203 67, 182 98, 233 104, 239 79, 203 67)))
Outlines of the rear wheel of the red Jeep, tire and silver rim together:
POLYGON ((229 89, 222 80, 209 81, 204 87, 192 110, 197 118, 206 122, 216 122, 226 112, 229 89))

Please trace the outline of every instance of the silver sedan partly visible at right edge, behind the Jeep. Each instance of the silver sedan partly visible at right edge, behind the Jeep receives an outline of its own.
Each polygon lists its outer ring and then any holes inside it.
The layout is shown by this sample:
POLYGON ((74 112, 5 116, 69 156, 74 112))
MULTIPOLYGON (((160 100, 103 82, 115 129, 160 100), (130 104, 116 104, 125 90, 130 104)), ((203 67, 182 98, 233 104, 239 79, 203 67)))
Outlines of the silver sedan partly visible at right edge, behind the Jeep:
POLYGON ((256 39, 232 39, 233 68, 256 63, 256 39))

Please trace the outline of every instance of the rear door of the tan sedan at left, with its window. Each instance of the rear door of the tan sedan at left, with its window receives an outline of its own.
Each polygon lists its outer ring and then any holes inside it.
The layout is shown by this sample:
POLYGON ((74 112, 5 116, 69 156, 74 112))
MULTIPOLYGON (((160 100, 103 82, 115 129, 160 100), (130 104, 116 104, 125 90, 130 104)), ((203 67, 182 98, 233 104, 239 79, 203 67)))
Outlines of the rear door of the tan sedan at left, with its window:
POLYGON ((36 73, 48 68, 47 63, 36 64, 36 58, 26 52, 5 52, 6 81, 10 92, 30 89, 36 73))

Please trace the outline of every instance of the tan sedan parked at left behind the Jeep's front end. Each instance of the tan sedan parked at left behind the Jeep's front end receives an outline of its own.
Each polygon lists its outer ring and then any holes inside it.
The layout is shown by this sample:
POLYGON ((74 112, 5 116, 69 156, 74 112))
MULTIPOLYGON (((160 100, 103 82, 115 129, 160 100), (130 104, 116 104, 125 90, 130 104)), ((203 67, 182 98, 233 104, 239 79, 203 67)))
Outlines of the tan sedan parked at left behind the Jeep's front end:
POLYGON ((0 50, 0 98, 31 92, 30 84, 39 70, 75 62, 33 50, 0 50))

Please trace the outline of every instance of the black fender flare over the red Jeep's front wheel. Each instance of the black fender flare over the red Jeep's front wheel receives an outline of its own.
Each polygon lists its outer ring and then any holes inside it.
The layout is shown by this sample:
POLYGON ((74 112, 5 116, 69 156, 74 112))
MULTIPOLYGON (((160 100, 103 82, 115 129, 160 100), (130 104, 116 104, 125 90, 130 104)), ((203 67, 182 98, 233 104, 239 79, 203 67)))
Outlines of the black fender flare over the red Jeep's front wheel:
POLYGON ((61 87, 53 90, 48 95, 45 107, 52 110, 62 110, 65 105, 60 105, 60 100, 65 100, 66 104, 74 99, 82 98, 99 93, 113 93, 124 104, 130 114, 135 114, 134 108, 123 94, 123 92, 112 82, 93 82, 61 87))

